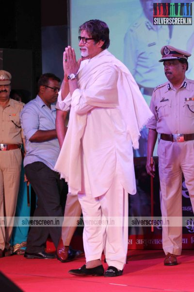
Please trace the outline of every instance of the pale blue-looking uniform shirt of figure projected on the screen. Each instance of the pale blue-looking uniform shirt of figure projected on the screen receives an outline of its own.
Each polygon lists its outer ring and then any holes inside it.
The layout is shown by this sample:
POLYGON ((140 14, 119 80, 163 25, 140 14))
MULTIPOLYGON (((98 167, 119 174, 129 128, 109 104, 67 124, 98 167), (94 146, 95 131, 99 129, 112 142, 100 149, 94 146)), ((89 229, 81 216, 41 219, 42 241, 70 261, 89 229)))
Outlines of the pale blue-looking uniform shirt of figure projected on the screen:
POLYGON ((164 43, 169 44, 167 25, 153 25, 142 15, 129 27, 124 39, 124 64, 141 87, 154 88, 156 80, 165 82, 158 62, 164 43))

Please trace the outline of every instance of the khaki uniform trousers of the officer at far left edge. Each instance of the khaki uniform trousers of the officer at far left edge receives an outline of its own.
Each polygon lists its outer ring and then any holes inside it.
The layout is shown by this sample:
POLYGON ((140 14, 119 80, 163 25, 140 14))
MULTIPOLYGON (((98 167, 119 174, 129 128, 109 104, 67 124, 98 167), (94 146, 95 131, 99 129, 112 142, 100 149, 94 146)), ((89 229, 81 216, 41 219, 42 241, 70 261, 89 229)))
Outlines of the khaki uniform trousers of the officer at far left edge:
MULTIPOLYGON (((21 163, 22 157, 19 148, 0 151, 0 217, 2 219, 15 216, 21 163)), ((6 221, 6 227, 0 224, 1 250, 10 247, 9 241, 12 236, 14 218, 6 221)))

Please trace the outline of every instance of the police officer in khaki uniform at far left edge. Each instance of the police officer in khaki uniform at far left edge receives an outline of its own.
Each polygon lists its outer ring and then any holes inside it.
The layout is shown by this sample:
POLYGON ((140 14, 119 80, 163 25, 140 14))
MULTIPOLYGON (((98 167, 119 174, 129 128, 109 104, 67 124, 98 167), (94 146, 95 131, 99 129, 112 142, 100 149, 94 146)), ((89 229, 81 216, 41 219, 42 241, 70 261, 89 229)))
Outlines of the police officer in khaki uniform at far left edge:
MULTIPOLYGON (((21 170, 21 125, 23 103, 10 98, 11 74, 0 70, 0 217, 14 217, 21 170)), ((9 256, 13 221, 0 224, 0 257, 9 256), (4 226, 6 225, 6 226, 4 226)))

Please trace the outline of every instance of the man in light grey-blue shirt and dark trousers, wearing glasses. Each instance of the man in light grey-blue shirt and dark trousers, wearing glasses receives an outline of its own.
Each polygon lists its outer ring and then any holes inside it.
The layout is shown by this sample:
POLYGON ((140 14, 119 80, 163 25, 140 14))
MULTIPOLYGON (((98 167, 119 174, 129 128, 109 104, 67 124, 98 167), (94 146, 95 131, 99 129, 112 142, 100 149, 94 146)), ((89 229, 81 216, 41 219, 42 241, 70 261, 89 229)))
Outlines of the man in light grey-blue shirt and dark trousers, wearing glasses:
MULTIPOLYGON (((56 102, 60 79, 51 73, 38 80, 38 95, 22 110, 20 118, 26 142, 24 169, 37 196, 34 219, 62 217, 60 196, 64 180, 53 170, 60 147, 55 130, 56 102)), ((54 221, 55 222, 55 221, 54 221)), ((26 258, 55 258, 45 252, 50 235, 57 248, 61 226, 32 226, 27 239, 26 258)))

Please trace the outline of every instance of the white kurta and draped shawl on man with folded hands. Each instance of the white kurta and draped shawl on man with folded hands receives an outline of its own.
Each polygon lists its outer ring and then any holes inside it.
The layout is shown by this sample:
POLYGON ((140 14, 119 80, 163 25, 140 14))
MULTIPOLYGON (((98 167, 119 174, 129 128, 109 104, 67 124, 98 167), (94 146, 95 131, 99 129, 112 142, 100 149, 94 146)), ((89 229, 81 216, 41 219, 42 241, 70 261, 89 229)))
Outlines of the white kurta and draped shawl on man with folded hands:
MULTIPOLYGON (((107 50, 84 62, 55 170, 65 177, 73 193, 88 191, 81 169, 83 147, 93 197, 110 188, 116 164, 123 188, 135 194, 132 142, 138 146, 139 131, 152 113, 129 70, 107 50)), ((69 101, 68 96, 59 105, 68 106, 69 101)))

